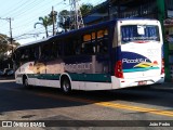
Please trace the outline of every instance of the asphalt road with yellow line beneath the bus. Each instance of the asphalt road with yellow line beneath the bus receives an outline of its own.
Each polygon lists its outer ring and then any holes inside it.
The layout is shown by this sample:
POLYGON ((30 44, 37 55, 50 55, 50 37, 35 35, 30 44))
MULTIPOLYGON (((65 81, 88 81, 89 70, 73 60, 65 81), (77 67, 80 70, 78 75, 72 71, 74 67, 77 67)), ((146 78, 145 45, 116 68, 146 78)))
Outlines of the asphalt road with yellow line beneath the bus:
POLYGON ((125 130, 129 127, 171 130, 173 87, 164 83, 114 91, 75 91, 64 95, 55 88, 26 89, 14 80, 0 80, 0 120, 43 121, 45 128, 37 129, 45 130, 56 130, 57 127, 63 130, 125 130))

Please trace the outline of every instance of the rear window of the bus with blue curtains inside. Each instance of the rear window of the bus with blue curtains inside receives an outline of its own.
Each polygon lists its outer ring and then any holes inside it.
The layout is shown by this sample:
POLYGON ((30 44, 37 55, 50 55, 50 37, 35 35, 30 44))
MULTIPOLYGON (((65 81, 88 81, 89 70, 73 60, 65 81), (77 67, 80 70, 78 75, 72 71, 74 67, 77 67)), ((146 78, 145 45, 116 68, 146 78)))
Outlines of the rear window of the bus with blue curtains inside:
POLYGON ((121 26, 121 42, 160 41, 159 28, 156 25, 121 26))

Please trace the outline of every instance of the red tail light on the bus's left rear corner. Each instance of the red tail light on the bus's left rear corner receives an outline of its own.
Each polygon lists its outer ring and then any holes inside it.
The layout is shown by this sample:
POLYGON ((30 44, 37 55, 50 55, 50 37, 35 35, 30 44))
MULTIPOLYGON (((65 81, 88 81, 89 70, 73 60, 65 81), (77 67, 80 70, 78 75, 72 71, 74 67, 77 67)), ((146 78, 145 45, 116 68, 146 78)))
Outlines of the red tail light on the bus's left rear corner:
POLYGON ((115 65, 115 76, 118 78, 123 78, 122 62, 121 61, 118 61, 115 65))

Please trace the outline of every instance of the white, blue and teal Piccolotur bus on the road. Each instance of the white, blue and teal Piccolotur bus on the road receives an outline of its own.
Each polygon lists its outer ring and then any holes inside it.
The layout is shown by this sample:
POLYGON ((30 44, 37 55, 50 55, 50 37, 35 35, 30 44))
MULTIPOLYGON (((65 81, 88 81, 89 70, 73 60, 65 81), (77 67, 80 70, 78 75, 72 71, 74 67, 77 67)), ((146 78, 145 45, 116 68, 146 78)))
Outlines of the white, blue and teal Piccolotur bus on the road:
POLYGON ((19 46, 15 80, 64 93, 162 83, 162 46, 157 20, 103 22, 19 46))

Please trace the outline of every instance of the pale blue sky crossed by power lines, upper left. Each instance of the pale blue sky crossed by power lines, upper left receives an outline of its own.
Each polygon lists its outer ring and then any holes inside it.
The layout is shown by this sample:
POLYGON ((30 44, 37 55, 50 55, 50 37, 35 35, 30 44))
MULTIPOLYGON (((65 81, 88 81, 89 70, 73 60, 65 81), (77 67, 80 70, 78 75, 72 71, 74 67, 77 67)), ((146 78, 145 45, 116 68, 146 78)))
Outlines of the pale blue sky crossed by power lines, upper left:
MULTIPOLYGON (((106 0, 80 0, 79 4, 91 3, 96 5, 106 0)), ((25 44, 45 37, 44 28, 35 23, 39 22, 40 16, 45 16, 52 11, 61 12, 62 10, 70 10, 69 0, 0 0, 0 34, 10 37, 10 22, 2 18, 12 18, 12 37, 25 44), (38 34, 38 35, 36 35, 38 34)), ((52 27, 49 27, 50 35, 52 27)))

